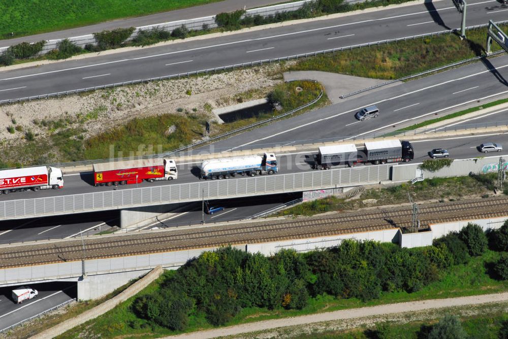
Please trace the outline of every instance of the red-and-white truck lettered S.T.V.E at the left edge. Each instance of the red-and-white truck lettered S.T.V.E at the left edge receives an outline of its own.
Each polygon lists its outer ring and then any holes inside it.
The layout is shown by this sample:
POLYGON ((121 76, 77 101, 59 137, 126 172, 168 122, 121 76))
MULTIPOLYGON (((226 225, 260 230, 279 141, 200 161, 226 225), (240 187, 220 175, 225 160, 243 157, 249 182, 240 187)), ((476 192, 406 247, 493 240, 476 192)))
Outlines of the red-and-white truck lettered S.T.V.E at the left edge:
POLYGON ((63 175, 60 168, 37 166, 0 171, 0 194, 62 187, 63 175))

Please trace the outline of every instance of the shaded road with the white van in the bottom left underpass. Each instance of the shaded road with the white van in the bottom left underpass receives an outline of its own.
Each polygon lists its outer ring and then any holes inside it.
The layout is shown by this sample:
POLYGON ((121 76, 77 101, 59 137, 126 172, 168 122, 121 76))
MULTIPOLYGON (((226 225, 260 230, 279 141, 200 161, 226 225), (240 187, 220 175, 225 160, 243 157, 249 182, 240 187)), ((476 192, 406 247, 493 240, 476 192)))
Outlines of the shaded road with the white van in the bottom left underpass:
POLYGON ((0 288, 0 330, 55 307, 77 296, 76 283, 26 284, 39 291, 34 299, 16 304, 11 298, 14 287, 0 288))

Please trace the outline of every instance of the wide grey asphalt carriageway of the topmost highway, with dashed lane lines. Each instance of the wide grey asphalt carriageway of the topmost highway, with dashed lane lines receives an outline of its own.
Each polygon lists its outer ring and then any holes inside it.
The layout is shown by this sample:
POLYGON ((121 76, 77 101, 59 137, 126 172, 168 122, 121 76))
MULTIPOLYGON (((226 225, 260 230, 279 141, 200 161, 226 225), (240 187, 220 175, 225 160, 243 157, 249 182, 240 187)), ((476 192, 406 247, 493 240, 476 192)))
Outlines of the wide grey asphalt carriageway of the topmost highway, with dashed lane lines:
MULTIPOLYGON (((467 24, 505 20, 506 8, 494 0, 468 3, 467 24)), ((0 100, 192 72, 459 26, 460 15, 451 3, 444 1, 312 20, 5 71, 0 76, 0 100)))

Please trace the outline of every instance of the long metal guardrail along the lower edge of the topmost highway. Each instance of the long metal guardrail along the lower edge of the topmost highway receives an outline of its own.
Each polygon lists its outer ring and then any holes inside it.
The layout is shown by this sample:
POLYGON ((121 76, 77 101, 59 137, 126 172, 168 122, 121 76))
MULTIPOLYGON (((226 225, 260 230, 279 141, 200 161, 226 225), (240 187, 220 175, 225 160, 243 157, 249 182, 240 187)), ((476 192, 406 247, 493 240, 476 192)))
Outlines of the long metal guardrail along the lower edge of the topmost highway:
MULTIPOLYGON (((508 22, 508 20, 507 21, 499 21, 497 23, 499 24, 499 23, 506 23, 506 22, 508 22)), ((487 26, 487 24, 471 26, 471 27, 467 27, 467 29, 479 28, 479 27, 484 27, 484 26, 487 26)), ((345 47, 339 47, 339 48, 333 48, 333 49, 326 49, 326 50, 309 52, 309 53, 283 56, 283 57, 272 58, 272 59, 263 59, 263 60, 258 60, 258 61, 243 62, 243 63, 233 64, 233 65, 214 67, 211 69, 204 69, 204 70, 186 72, 186 73, 178 73, 178 74, 166 75, 166 76, 161 76, 161 77, 132 80, 132 81, 126 81, 126 82, 107 84, 107 85, 102 85, 102 86, 79 88, 79 89, 74 89, 74 90, 69 90, 69 91, 47 93, 47 94, 34 95, 34 96, 26 96, 26 97, 21 97, 21 98, 16 98, 16 99, 0 100, 0 105, 13 104, 13 103, 19 103, 21 101, 30 101, 30 100, 37 100, 37 99, 49 99, 51 97, 59 97, 59 96, 63 96, 63 95, 78 94, 78 93, 89 92, 89 91, 94 91, 94 90, 98 90, 98 89, 106 89, 106 88, 115 88, 115 87, 126 86, 126 85, 134 85, 134 84, 145 83, 145 82, 150 82, 150 81, 160 81, 160 80, 168 80, 168 79, 174 79, 174 78, 179 79, 182 77, 190 77, 193 75, 197 76, 200 74, 208 74, 208 73, 216 73, 216 72, 221 72, 221 71, 235 70, 238 68, 261 65, 264 63, 280 62, 280 61, 284 61, 284 60, 292 60, 292 59, 299 59, 299 58, 309 57, 309 56, 317 56, 319 54, 334 53, 334 52, 339 52, 339 51, 353 49, 353 48, 379 46, 379 45, 387 44, 390 42, 412 40, 412 39, 418 39, 418 38, 424 38, 424 37, 432 37, 432 36, 438 36, 438 35, 447 34, 447 33, 451 34, 455 31, 457 31, 457 29, 443 30, 443 31, 438 31, 438 32, 425 33, 425 34, 420 34, 420 35, 416 35, 416 36, 409 36, 409 37, 403 37, 403 38, 397 38, 397 39, 387 39, 387 40, 381 40, 381 41, 375 41, 375 42, 369 42, 369 43, 364 43, 364 44, 357 44, 357 45, 351 45, 351 46, 345 46, 345 47)))

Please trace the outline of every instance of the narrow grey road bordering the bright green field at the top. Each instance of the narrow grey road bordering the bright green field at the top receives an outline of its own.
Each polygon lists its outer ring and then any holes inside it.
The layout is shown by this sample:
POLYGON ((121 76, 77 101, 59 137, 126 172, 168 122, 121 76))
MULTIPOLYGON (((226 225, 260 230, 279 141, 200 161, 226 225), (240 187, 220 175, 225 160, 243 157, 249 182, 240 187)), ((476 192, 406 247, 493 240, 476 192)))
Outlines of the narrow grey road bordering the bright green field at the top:
POLYGON ((100 32, 104 29, 114 29, 118 27, 141 27, 151 24, 201 18, 204 16, 215 15, 222 12, 232 12, 246 7, 247 9, 273 5, 280 3, 280 0, 224 0, 207 5, 194 6, 180 10, 162 12, 140 17, 117 19, 107 22, 101 22, 95 25, 77 27, 66 30, 42 33, 38 35, 20 37, 14 39, 0 40, 0 47, 19 44, 21 42, 37 42, 41 40, 63 39, 70 37, 79 37, 100 32))

